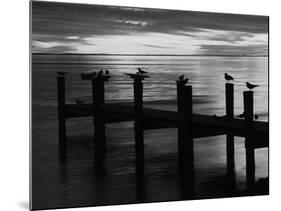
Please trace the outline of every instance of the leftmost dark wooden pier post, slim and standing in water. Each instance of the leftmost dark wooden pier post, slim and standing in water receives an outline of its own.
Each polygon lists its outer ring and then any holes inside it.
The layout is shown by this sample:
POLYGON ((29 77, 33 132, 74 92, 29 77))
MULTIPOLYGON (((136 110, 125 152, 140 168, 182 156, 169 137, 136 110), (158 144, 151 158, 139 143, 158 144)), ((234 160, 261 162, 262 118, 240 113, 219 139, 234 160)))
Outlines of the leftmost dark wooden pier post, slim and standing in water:
POLYGON ((60 157, 65 154, 66 148, 66 121, 65 121, 65 78, 57 76, 57 102, 58 102, 58 124, 59 124, 59 151, 60 157))

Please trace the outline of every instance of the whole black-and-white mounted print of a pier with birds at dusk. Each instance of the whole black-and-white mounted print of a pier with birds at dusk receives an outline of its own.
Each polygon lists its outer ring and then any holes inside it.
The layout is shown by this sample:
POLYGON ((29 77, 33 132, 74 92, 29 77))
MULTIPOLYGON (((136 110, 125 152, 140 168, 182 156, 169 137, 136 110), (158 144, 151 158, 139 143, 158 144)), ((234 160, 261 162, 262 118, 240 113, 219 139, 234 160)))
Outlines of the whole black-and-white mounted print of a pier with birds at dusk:
POLYGON ((269 194, 269 17, 30 8, 33 210, 269 194))

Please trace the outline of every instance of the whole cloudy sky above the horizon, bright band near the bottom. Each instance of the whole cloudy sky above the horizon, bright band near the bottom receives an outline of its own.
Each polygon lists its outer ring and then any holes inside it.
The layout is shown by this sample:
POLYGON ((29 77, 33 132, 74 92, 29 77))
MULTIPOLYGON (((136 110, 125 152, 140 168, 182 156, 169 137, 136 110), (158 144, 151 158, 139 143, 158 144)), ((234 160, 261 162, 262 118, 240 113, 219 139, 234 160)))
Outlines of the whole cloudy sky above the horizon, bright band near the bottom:
POLYGON ((32 2, 33 53, 268 54, 268 17, 32 2))

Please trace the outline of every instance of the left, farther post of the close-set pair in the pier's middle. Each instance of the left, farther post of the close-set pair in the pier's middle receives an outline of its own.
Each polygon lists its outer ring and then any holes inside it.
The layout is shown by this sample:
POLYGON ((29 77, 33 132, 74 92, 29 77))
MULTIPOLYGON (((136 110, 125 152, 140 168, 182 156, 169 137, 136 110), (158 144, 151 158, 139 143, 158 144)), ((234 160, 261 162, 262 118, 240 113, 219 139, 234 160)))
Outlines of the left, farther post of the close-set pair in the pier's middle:
MULTIPOLYGON (((183 80, 177 80, 177 109, 178 112, 183 112, 184 108, 184 87, 185 83, 183 80)), ((178 128, 178 167, 179 170, 183 170, 183 129, 181 127, 178 128)))

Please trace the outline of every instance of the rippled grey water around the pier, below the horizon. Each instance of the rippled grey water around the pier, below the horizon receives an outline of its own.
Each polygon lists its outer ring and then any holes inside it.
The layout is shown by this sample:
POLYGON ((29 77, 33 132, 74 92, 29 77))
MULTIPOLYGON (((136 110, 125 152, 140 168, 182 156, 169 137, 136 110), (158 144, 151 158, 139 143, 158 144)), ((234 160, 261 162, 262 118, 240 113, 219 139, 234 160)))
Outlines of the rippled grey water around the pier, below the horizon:
MULTIPOLYGON (((146 107, 176 109, 176 83, 181 74, 190 79, 194 112, 225 114, 224 73, 235 78, 235 114, 243 111, 245 82, 259 84, 254 111, 268 121, 267 57, 34 55, 32 66, 33 191, 37 207, 134 203, 139 188, 134 178, 134 138, 131 122, 107 125, 107 168, 103 176, 93 166, 91 118, 73 119, 68 127, 68 162, 60 164, 57 152, 56 72, 68 71, 67 101, 90 101, 91 86, 80 73, 108 69, 107 101, 132 101, 132 81, 124 73, 137 67, 149 72, 144 82, 146 107), (122 194, 120 194, 122 193, 122 194), (136 193, 136 194, 132 194, 136 193)), ((141 201, 184 199, 177 174, 176 129, 145 132, 146 182, 141 201)), ((196 139, 195 195, 229 196, 225 177, 225 136, 196 139)), ((256 179, 268 176, 268 150, 256 150, 256 179)), ((236 187, 245 189, 244 141, 235 138, 236 187)), ((233 191, 233 190, 232 190, 233 191)))

